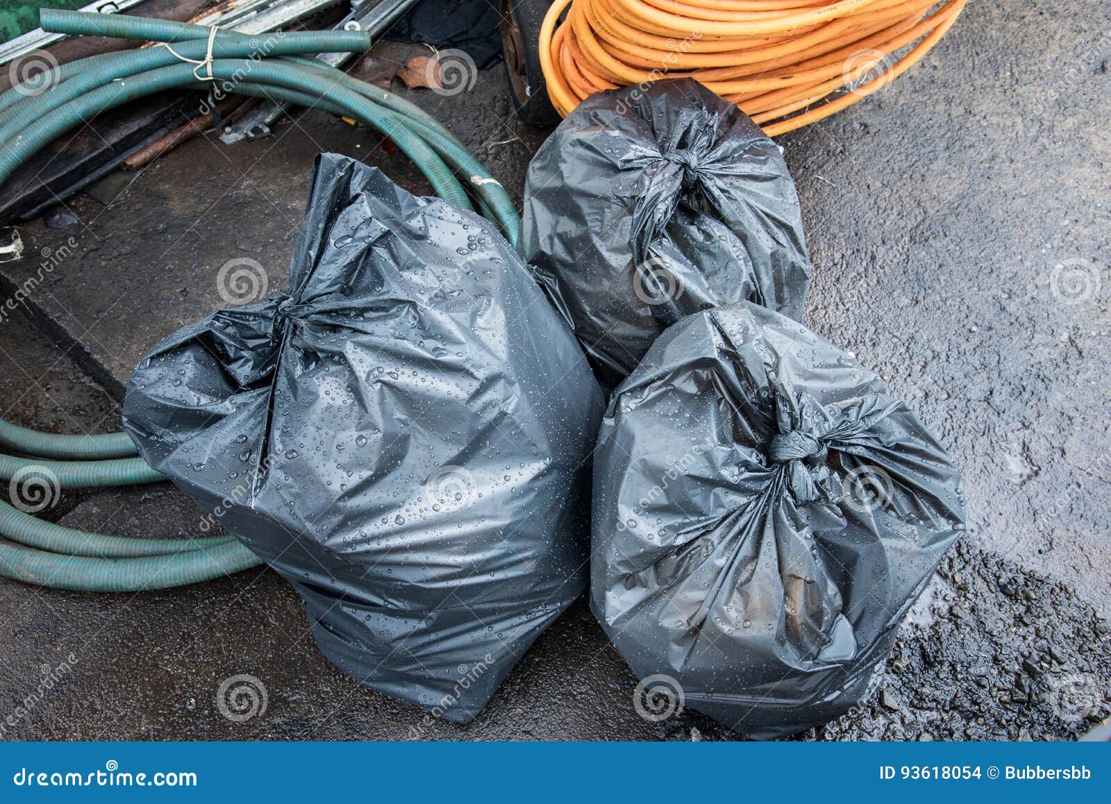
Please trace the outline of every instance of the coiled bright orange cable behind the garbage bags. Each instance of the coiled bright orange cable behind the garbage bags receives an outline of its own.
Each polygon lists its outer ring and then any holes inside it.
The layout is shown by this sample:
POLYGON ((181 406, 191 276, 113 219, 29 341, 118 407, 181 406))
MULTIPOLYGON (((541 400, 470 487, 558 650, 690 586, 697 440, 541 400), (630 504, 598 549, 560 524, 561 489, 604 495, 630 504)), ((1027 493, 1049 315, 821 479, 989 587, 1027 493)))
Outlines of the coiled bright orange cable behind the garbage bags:
POLYGON ((690 77, 774 137, 885 87, 945 36, 967 3, 556 0, 540 29, 540 63, 562 117, 603 89, 690 77), (843 88, 850 91, 830 98, 843 88))

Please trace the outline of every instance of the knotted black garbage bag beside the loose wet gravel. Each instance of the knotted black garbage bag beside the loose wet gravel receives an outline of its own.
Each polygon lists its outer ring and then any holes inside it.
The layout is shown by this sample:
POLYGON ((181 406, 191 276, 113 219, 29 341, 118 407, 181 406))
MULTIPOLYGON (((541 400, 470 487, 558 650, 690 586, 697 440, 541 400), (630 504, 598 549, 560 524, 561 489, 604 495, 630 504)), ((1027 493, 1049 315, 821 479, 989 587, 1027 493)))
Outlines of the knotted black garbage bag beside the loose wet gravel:
POLYGON ((591 603, 640 677, 667 676, 663 712, 678 687, 743 734, 791 734, 880 681, 963 523, 957 466, 874 374, 778 313, 718 308, 610 402, 591 603))

